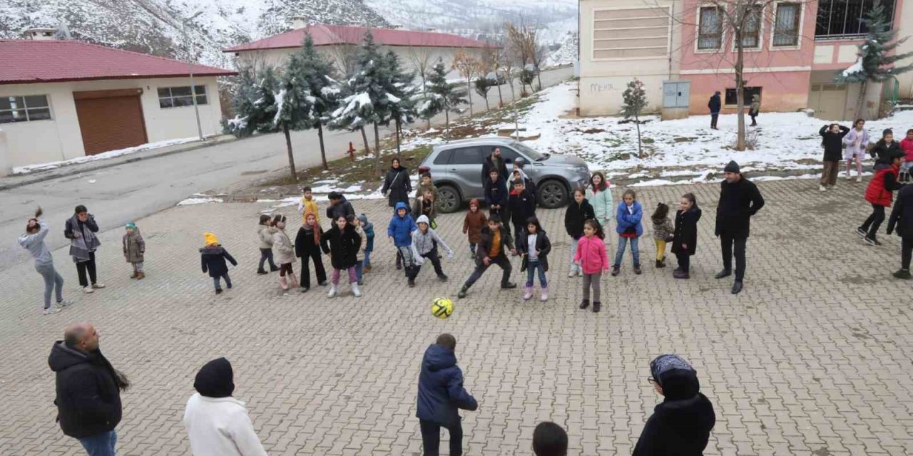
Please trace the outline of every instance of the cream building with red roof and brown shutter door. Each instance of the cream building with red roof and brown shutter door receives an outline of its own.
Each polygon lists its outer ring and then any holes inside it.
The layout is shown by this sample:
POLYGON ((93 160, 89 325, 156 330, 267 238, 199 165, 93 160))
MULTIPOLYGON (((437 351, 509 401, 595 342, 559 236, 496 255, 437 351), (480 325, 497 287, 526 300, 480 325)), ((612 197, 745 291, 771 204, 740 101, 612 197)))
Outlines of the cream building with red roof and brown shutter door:
POLYGON ((30 35, 0 40, 0 173, 193 138, 196 111, 204 135, 221 131, 216 78, 236 72, 30 35))

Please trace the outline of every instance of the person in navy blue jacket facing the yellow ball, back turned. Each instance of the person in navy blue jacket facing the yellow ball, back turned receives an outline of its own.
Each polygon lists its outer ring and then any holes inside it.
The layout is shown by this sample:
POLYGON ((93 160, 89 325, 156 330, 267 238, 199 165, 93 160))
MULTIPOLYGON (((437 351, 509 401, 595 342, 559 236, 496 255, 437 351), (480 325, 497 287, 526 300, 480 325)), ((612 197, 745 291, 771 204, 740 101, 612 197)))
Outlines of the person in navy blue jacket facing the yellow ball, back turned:
POLYGON ((450 431, 450 456, 463 454, 463 427, 458 410, 478 409, 476 398, 463 388, 463 371, 456 366, 456 337, 442 334, 425 350, 418 375, 415 416, 422 429, 424 456, 440 454, 441 428, 450 431))

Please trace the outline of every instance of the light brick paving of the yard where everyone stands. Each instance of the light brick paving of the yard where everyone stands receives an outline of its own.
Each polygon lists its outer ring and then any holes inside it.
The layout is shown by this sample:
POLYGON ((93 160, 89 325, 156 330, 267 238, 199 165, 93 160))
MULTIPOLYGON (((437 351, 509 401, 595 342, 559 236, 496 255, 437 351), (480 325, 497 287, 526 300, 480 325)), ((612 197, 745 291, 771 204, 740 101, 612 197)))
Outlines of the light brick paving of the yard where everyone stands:
MULTIPOLYGON (((547 304, 499 290, 497 268, 456 300, 471 268, 460 214, 440 219, 458 253, 444 263, 450 283, 426 267, 410 289, 384 238, 385 202, 353 202, 377 226, 374 270, 364 297, 332 300, 325 288, 283 295, 276 275, 254 274, 262 204, 154 214, 138 221, 147 244, 142 282, 128 278, 120 230, 100 236, 100 280, 109 287, 94 295, 79 292, 66 249, 55 252, 67 295, 77 299, 58 315, 39 315, 40 277, 30 262, 0 273, 0 453, 82 454, 54 422, 47 368, 52 342, 79 320, 99 328, 102 350, 133 381, 118 427, 125 455, 189 454, 184 404, 196 370, 220 356, 234 365, 236 397, 247 401, 269 454, 420 454, 417 369, 445 331, 457 337, 467 389, 480 404, 464 414, 469 455, 531 454, 540 420, 568 430, 573 455, 629 454, 658 401, 646 381, 649 360, 666 352, 698 368, 717 410, 707 454, 913 453, 911 285, 889 276, 899 263, 897 237, 882 235, 884 245, 873 248, 853 233, 868 213, 863 184, 839 181, 826 194, 817 181, 760 187, 768 204, 752 223, 741 295, 713 278, 719 187, 644 188, 645 212, 697 193, 704 218, 693 278, 673 280, 672 257, 656 270, 645 236, 644 275, 625 258, 622 275, 603 278, 603 312, 595 315, 577 309, 579 279, 566 277, 563 211, 540 211, 554 244, 547 304), (240 262, 231 271, 236 287, 224 295, 200 272, 205 231, 240 262), (446 321, 430 315, 436 296, 456 302, 446 321)), ((50 222, 61 235, 63 221, 50 222)), ((514 267, 520 282, 519 261, 514 267)))

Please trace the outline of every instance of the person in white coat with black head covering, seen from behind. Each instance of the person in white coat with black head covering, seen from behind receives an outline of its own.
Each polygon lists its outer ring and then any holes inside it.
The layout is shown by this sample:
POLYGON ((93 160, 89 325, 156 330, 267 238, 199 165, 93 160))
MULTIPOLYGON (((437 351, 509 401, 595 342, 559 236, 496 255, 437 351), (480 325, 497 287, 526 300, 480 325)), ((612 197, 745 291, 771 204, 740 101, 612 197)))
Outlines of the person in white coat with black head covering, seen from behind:
POLYGON ((194 389, 184 409, 184 428, 194 456, 266 456, 245 403, 232 397, 235 378, 226 358, 200 368, 194 389))

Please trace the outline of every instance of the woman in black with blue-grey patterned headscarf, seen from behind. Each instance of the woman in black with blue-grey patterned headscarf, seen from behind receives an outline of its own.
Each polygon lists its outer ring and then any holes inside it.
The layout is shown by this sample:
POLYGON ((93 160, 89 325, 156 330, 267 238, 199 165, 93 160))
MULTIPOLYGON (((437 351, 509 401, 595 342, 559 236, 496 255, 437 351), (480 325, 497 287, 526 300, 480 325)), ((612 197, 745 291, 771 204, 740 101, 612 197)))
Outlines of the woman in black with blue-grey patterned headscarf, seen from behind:
POLYGON ((704 454, 717 415, 700 393, 698 372, 677 355, 662 355, 650 362, 650 374, 664 398, 646 420, 632 456, 704 454))

